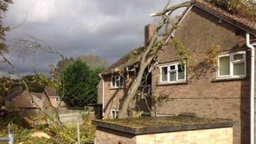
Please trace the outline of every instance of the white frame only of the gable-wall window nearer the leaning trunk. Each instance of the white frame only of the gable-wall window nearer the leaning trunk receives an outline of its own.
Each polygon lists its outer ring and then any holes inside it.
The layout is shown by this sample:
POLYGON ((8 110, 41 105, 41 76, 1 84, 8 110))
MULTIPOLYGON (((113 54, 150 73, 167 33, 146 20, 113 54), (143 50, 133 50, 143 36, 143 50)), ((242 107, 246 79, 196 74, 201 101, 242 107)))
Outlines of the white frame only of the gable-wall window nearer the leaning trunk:
POLYGON ((186 82, 187 81, 187 65, 186 63, 184 64, 184 79, 183 80, 178 80, 178 65, 179 62, 173 62, 171 64, 165 64, 160 66, 160 83, 165 84, 165 83, 179 83, 179 82, 186 82), (175 66, 174 70, 170 70, 170 66, 175 66), (162 81, 162 68, 167 67, 167 81, 162 81), (170 81, 170 72, 175 71, 176 73, 176 80, 175 81, 170 81))

